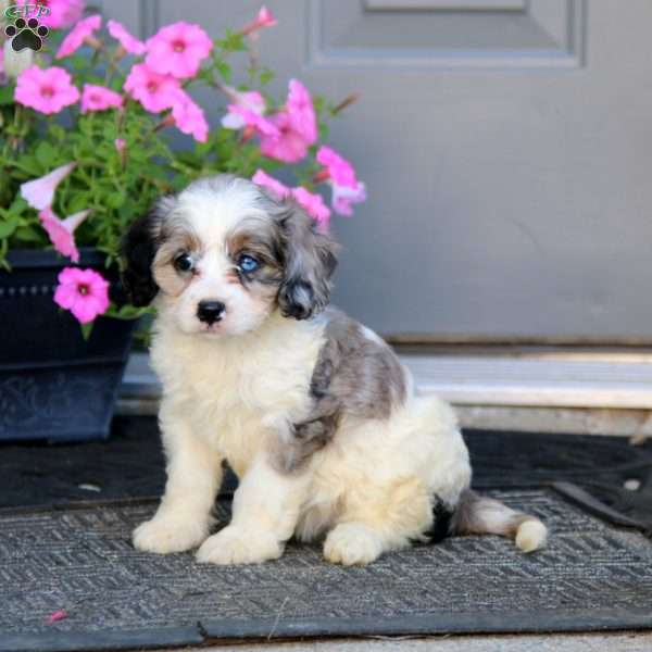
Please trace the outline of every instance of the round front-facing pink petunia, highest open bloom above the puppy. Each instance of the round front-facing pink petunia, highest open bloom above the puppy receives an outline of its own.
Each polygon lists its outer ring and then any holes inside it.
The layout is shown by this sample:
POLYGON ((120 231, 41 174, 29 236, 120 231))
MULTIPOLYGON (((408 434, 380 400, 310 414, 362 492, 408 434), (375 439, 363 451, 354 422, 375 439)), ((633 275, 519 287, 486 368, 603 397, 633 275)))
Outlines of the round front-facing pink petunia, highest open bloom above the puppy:
POLYGON ((159 29, 147 41, 147 65, 160 75, 177 79, 195 77, 211 53, 213 41, 199 26, 180 21, 159 29))

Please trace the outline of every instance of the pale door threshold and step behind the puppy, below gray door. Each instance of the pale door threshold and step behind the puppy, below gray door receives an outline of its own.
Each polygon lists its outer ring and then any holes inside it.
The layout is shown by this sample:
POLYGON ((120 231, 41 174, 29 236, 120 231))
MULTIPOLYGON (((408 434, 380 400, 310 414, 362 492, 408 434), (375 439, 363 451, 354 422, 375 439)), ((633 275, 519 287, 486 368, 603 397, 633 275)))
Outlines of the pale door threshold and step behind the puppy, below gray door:
MULTIPOLYGON (((465 428, 652 435, 652 355, 403 354, 421 393, 456 408, 465 428)), ((155 414, 161 387, 147 354, 131 355, 118 412, 155 414)))

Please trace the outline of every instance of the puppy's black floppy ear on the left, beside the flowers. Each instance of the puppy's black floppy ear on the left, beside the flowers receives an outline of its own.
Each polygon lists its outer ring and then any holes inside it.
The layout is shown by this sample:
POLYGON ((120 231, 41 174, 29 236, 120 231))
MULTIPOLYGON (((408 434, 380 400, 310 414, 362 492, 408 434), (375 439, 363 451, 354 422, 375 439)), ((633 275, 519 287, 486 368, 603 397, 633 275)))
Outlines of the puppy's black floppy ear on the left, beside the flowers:
POLYGON ((172 197, 164 197, 145 217, 131 224, 123 239, 122 279, 134 305, 149 305, 159 292, 152 274, 152 263, 159 249, 164 216, 173 203, 172 197))

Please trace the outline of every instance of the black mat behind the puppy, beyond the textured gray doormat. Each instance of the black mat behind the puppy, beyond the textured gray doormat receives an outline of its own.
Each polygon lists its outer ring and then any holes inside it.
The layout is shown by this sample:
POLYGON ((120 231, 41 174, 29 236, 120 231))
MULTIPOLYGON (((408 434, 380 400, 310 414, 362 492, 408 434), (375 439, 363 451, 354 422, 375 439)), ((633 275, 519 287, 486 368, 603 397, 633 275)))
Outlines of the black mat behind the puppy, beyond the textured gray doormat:
MULTIPOLYGON (((572 481, 652 532, 652 441, 484 430, 464 437, 476 487, 572 481)), ((0 510, 159 497, 165 474, 156 419, 117 417, 108 441, 0 444, 0 510)), ((224 494, 233 487, 231 478, 224 494)))

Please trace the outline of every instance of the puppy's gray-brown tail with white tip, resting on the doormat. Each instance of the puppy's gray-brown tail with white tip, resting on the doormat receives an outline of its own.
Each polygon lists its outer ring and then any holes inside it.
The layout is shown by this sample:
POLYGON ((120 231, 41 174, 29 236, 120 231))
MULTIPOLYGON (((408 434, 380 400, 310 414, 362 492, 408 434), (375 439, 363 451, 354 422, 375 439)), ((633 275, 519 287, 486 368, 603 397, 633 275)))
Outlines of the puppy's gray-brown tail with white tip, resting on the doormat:
POLYGON ((536 516, 515 512, 498 500, 465 489, 451 519, 453 535, 502 535, 523 552, 546 546, 548 530, 536 516))

